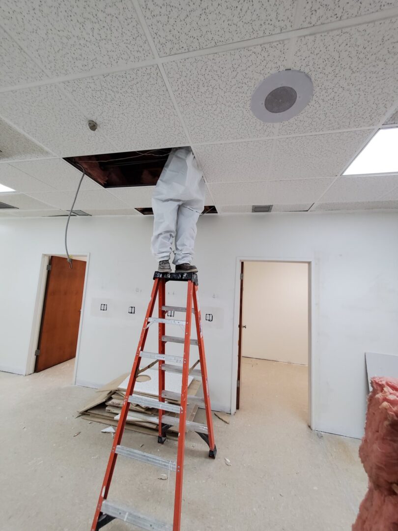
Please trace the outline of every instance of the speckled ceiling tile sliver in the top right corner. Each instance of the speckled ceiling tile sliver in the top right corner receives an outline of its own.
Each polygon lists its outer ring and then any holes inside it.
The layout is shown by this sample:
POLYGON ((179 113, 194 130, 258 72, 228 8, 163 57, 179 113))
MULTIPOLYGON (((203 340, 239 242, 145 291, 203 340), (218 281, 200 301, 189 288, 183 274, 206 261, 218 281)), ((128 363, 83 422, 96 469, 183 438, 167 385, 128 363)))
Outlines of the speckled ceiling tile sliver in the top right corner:
POLYGON ((301 16, 300 27, 315 26, 334 22, 336 20, 350 19, 353 16, 377 13, 390 7, 397 7, 396 0, 333 0, 319 2, 319 0, 306 0, 301 16))

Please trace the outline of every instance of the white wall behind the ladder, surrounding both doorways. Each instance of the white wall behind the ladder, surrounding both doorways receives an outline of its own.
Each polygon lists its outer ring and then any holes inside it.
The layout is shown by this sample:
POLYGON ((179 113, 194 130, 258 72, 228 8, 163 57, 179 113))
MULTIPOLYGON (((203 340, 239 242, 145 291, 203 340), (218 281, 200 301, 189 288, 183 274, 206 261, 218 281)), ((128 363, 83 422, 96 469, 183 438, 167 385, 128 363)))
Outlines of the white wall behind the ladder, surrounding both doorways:
MULTIPOLYGON (((3 370, 25 372, 41 255, 64 253, 64 224, 65 218, 0 218, 3 370)), ((313 426, 361 436, 364 353, 395 353, 398 345, 398 213, 208 215, 198 225, 202 310, 212 308, 215 315, 204 326, 214 404, 229 410, 233 401, 237 256, 312 259, 313 426)), ((155 269, 151 230, 151 217, 71 219, 71 253, 90 253, 78 383, 96 386, 131 369, 155 269), (105 298, 113 306, 107 317, 97 312, 105 298), (127 302, 137 307, 135 316, 124 314, 127 302)), ((171 290, 171 301, 180 302, 178 290, 171 290)))

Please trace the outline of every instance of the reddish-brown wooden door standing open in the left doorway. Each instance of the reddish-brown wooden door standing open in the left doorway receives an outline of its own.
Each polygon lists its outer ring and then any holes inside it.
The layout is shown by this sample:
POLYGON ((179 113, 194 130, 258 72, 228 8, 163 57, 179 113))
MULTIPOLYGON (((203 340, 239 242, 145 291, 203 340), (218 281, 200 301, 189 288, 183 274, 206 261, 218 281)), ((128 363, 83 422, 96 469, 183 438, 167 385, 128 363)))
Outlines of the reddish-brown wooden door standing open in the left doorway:
POLYGON ((76 355, 86 263, 73 260, 72 265, 66 258, 50 258, 35 372, 76 355))

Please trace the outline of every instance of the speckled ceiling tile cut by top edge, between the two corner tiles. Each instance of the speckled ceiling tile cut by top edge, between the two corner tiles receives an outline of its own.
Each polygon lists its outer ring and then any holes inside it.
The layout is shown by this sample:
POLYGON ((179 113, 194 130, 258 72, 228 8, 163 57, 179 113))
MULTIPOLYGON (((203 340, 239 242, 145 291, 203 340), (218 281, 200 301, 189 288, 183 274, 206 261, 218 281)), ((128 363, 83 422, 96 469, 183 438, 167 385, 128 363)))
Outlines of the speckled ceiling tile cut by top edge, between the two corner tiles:
POLYGON ((292 28, 295 0, 140 0, 161 56, 280 33, 292 28))

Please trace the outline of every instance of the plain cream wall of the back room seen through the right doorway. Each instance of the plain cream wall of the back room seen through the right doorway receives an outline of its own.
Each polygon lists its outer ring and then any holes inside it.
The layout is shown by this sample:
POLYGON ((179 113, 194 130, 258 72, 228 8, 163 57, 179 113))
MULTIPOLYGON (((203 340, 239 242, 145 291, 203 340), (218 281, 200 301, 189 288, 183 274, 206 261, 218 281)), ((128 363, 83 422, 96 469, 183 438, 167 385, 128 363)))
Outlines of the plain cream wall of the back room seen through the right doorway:
POLYGON ((308 264, 244 264, 242 355, 308 363, 308 264))

